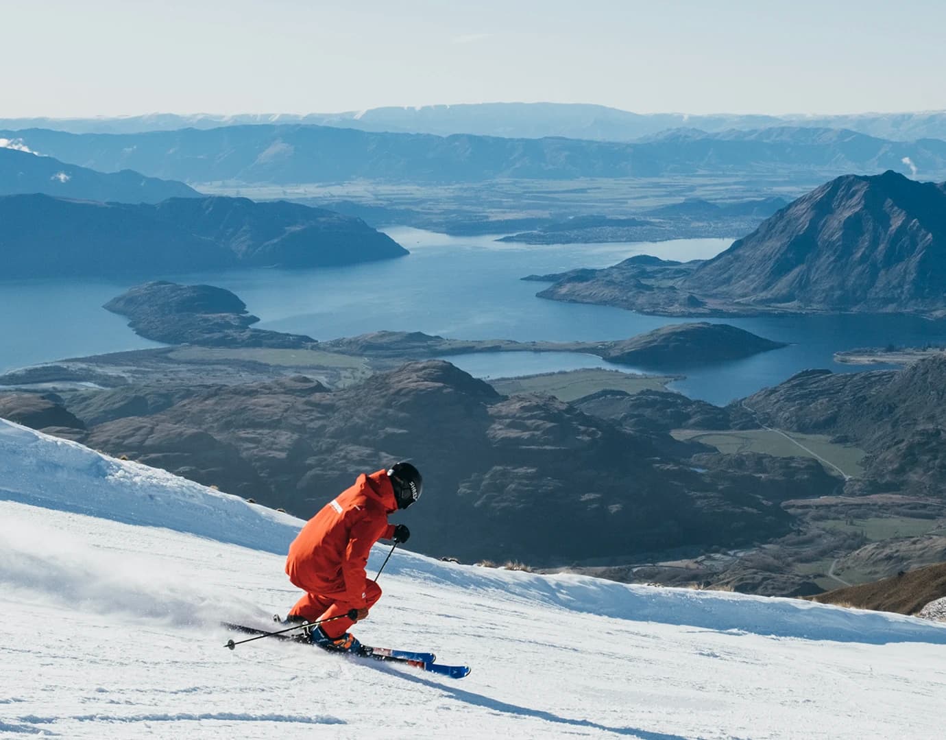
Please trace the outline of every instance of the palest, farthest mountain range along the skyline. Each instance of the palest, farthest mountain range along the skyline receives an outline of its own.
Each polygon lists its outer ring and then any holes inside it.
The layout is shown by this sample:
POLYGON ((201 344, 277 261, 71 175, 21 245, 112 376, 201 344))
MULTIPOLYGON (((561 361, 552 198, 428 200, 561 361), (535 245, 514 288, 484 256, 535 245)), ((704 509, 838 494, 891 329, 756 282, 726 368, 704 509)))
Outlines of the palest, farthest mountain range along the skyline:
POLYGON ((74 133, 138 133, 213 129, 245 124, 314 124, 372 132, 474 133, 511 138, 566 136, 633 141, 667 129, 708 132, 793 126, 850 129, 885 139, 946 139, 946 111, 851 115, 636 114, 581 103, 476 103, 372 108, 337 114, 131 115, 114 118, 0 118, 3 129, 54 129, 74 133))

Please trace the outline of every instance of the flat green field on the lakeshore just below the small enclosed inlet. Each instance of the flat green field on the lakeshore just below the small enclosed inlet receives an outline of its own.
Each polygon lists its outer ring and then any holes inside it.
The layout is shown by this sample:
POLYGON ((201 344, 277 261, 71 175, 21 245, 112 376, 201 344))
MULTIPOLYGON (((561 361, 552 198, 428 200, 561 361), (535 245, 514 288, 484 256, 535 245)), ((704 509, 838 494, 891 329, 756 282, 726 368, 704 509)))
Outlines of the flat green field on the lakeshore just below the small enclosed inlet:
POLYGON ((640 376, 617 370, 591 367, 585 370, 570 370, 562 373, 522 376, 521 378, 499 378, 489 384, 504 396, 521 393, 543 393, 563 401, 573 401, 596 391, 618 390, 638 393, 644 390, 666 391, 666 384, 674 378, 663 376, 640 376))

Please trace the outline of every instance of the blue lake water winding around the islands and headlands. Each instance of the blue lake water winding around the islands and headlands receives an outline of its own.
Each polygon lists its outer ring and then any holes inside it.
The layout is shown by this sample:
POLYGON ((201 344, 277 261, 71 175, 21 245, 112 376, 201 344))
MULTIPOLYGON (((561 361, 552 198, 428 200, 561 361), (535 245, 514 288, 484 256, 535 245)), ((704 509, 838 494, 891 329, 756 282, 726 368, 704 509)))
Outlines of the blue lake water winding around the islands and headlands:
MULTIPOLYGON (((632 337, 686 319, 645 316, 621 308, 547 301, 544 283, 526 274, 605 267, 637 254, 706 258, 727 239, 681 239, 655 244, 503 244, 491 237, 451 238, 416 229, 388 233, 412 254, 384 262, 316 271, 248 270, 156 275, 209 283, 242 298, 260 328, 319 340, 379 329, 424 331, 458 339, 594 341, 632 337)), ((99 308, 130 285, 108 281, 0 283, 0 371, 41 361, 154 346, 121 317, 99 308)), ((714 321, 724 321, 716 319, 714 321)), ((838 365, 838 350, 889 343, 946 344, 946 323, 911 316, 784 316, 727 319, 769 339, 793 343, 744 361, 678 371, 672 387, 726 403, 773 385, 799 370, 838 365)), ((509 377, 575 367, 614 367, 589 355, 491 353, 450 358, 479 377, 509 377)), ((624 368, 626 369, 626 368, 624 368)))

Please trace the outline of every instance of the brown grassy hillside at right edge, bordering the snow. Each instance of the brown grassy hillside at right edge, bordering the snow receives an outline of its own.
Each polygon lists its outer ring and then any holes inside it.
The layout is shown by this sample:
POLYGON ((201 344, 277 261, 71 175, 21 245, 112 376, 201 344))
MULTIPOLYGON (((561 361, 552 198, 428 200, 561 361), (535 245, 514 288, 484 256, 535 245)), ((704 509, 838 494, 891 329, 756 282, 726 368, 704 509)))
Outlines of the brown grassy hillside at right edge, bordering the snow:
POLYGON ((946 563, 893 575, 883 581, 819 593, 808 598, 820 604, 915 614, 931 601, 943 596, 946 596, 946 563))

